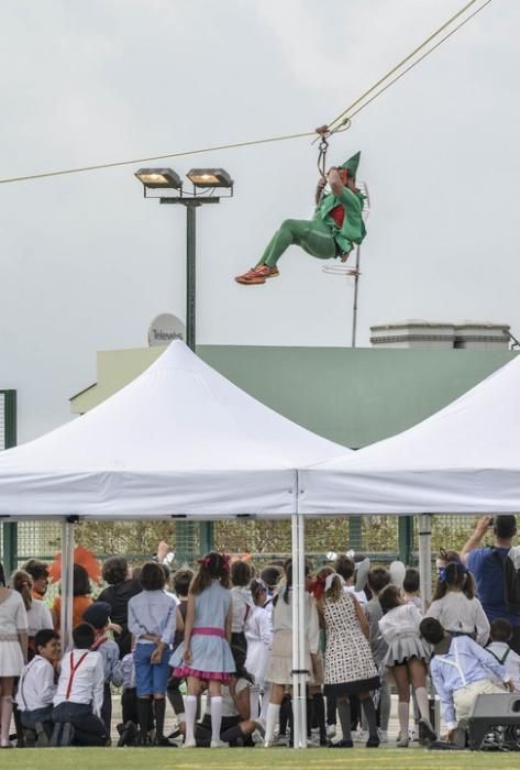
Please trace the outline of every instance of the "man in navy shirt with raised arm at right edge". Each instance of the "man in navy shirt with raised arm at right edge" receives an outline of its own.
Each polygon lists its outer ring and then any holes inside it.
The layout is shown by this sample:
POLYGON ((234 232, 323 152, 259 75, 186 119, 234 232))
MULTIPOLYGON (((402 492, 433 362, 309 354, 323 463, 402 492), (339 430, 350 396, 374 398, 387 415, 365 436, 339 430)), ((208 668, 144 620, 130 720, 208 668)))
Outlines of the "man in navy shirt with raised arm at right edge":
POLYGON ((461 560, 475 578, 477 596, 484 607, 489 623, 506 618, 513 628, 511 649, 520 654, 520 613, 513 613, 506 604, 502 558, 509 552, 517 535, 515 516, 484 516, 479 519, 474 534, 461 552, 461 560), (480 541, 489 527, 494 527, 493 547, 479 548, 480 541))

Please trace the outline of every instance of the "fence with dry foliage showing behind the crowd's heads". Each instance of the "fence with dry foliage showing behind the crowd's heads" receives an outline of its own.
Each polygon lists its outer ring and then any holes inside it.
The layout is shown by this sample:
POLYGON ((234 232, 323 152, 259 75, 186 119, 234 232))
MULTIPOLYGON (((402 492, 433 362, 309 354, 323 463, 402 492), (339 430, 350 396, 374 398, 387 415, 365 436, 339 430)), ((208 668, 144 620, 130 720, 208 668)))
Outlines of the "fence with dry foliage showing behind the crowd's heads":
MULTIPOLYGON (((439 548, 460 550, 475 525, 474 516, 433 516, 432 553, 439 548)), ((20 522, 13 537, 12 525, 1 527, 0 546, 5 556, 7 546, 12 552, 7 571, 21 566, 27 559, 49 562, 60 550, 60 525, 53 521, 20 522), (11 529, 9 529, 9 527, 11 529), (10 542, 4 541, 5 537, 10 542)), ((207 525, 206 525, 207 527, 207 525)), ((214 522, 206 531, 196 522, 133 521, 133 522, 80 522, 76 526, 77 544, 92 550, 100 560, 113 554, 126 556, 131 566, 139 566, 153 558, 159 540, 165 540, 175 551, 173 568, 193 565, 207 550, 212 538, 219 551, 247 556, 256 569, 273 560, 290 556, 291 534, 289 520, 237 520, 214 522)), ((9 550, 8 549, 8 550, 9 550)), ((314 568, 327 561, 328 553, 347 550, 368 556, 374 563, 388 564, 401 558, 409 564, 418 561, 417 517, 348 516, 309 519, 306 522, 306 551, 314 568), (408 522, 408 527, 405 526, 408 522)))

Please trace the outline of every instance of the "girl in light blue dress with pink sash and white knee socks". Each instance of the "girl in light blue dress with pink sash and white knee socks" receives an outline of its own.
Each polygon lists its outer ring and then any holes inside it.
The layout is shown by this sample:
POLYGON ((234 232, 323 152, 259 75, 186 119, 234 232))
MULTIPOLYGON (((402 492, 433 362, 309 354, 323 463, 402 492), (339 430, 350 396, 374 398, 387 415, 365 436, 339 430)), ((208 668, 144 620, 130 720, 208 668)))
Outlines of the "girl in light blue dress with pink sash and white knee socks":
POLYGON ((188 594, 185 640, 174 652, 170 666, 174 676, 186 676, 188 682, 185 747, 196 746, 197 696, 204 682, 211 697, 211 746, 219 748, 225 746, 220 740, 221 688, 235 671, 230 648, 232 610, 229 559, 213 552, 199 559, 199 564, 188 594))

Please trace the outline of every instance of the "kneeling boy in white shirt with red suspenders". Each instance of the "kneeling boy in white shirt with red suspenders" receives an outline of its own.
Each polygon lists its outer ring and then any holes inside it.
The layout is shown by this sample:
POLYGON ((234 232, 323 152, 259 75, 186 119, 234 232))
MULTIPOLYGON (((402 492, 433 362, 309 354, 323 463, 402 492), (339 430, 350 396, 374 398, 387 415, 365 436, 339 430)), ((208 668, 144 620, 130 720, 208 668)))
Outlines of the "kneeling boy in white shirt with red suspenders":
POLYGON ((73 630, 73 641, 74 649, 62 659, 51 746, 106 746, 107 730, 100 719, 104 671, 100 653, 90 651, 93 627, 80 623, 73 630))

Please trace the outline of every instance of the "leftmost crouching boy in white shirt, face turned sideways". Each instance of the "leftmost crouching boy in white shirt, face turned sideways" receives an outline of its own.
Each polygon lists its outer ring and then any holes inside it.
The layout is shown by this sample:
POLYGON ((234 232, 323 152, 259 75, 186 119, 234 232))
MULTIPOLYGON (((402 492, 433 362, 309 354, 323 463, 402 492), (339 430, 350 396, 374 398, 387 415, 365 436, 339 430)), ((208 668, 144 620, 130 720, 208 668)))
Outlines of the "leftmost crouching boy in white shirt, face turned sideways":
POLYGON ((59 635, 45 628, 34 637, 34 646, 36 654, 24 667, 16 693, 16 705, 27 748, 47 746, 53 732, 55 664, 59 660, 59 635))

